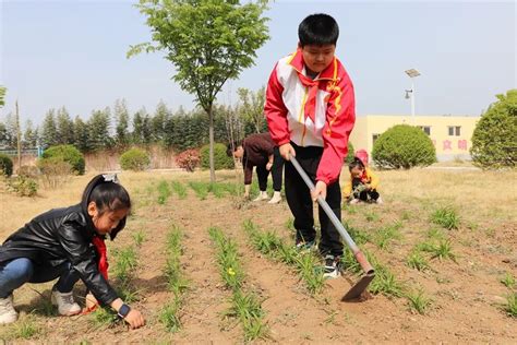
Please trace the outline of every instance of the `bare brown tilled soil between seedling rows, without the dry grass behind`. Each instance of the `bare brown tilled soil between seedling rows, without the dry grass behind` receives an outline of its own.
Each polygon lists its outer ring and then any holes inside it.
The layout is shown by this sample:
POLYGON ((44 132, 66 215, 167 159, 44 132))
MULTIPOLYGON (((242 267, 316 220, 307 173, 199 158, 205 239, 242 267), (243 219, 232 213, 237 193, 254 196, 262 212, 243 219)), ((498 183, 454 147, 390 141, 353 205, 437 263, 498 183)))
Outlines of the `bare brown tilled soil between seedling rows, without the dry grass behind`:
MULTIPOLYGON (((420 286, 433 299, 431 310, 421 316, 409 310, 405 298, 375 295, 361 302, 340 301, 350 288, 350 282, 356 279, 348 275, 327 281, 323 292, 312 296, 292 267, 254 250, 243 231, 245 219, 264 230, 276 230, 286 241, 292 240, 286 227, 291 215, 285 201, 276 205, 261 202, 237 207, 242 204, 236 197, 217 199, 209 194, 206 200, 199 200, 189 189, 187 199, 172 195, 166 204, 159 205, 156 195, 146 194, 143 187, 133 197, 137 203, 127 229, 116 242, 109 243, 109 249, 111 253, 115 248, 132 243, 131 233, 145 233, 146 240, 137 250, 136 278, 132 281, 140 300, 132 307, 144 313, 147 324, 129 331, 122 323, 96 328, 91 316, 44 316, 34 309, 48 297, 50 285, 26 285, 16 292, 15 306, 22 313, 21 320, 31 316, 40 329, 29 342, 243 343, 241 325, 224 317, 229 308, 230 292, 219 276, 208 237, 208 228, 216 226, 238 242, 247 272, 247 286, 258 292, 262 298, 269 333, 256 343, 517 343, 517 320, 502 310, 508 290, 500 283, 504 272, 517 276, 515 224, 503 223, 500 225, 502 231, 494 237, 474 234, 467 228, 458 229, 452 237, 457 263, 432 260, 433 270, 428 272, 405 265, 408 252, 417 239, 422 238, 421 229, 429 228, 426 221, 418 216, 419 210, 406 209, 406 212, 414 211, 416 216, 404 223, 404 239, 394 242, 388 250, 368 243, 366 247, 390 267, 397 278, 410 286, 420 286), (171 298, 164 266, 165 238, 172 224, 178 225, 184 235, 181 263, 190 286, 181 310, 182 328, 178 333, 167 332, 157 320, 160 308, 171 298)), ((353 213, 344 212, 344 217, 354 222, 357 228, 371 230, 400 218, 402 209, 396 202, 390 205, 358 205, 353 213), (380 218, 365 221, 365 212, 375 212, 380 218)), ((84 287, 77 285, 75 294, 81 296, 84 287)), ((0 328, 0 338, 11 338, 7 331, 7 328, 3 331, 0 328)), ((24 342, 20 337, 11 340, 24 342)))

